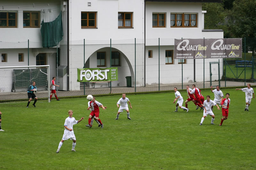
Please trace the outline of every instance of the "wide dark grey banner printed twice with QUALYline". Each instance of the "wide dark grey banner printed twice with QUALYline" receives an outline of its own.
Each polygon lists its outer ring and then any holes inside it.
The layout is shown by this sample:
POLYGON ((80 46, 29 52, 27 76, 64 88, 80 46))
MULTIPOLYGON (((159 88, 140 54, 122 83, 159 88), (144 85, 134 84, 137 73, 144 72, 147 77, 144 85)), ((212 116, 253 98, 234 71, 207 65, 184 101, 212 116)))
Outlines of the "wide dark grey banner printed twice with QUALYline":
POLYGON ((174 40, 174 59, 241 57, 241 38, 174 40))

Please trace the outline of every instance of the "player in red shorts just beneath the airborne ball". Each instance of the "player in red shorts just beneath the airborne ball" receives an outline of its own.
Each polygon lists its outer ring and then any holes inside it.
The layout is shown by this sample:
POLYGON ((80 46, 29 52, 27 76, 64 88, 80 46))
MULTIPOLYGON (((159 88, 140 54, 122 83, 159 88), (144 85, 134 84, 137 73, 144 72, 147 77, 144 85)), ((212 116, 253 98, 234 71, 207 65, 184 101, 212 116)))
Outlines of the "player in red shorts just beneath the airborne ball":
POLYGON ((91 121, 92 121, 92 117, 95 116, 95 119, 98 120, 100 122, 101 128, 103 128, 103 124, 99 119, 99 115, 100 115, 100 109, 99 107, 101 107, 103 110, 106 110, 107 107, 104 107, 100 102, 95 100, 95 97, 93 97, 92 101, 90 101, 90 107, 87 108, 87 110, 90 110, 90 108, 92 108, 92 112, 89 115, 89 119, 88 119, 88 125, 86 125, 87 127, 91 128, 91 121))

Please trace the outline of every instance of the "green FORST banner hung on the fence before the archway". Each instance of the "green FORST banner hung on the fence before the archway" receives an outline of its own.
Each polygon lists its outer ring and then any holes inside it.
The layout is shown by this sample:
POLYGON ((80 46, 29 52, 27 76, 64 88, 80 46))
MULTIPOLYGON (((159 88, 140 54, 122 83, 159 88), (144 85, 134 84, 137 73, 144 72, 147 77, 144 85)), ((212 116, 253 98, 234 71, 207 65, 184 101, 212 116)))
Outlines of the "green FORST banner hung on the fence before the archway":
POLYGON ((77 81, 116 81, 118 80, 117 67, 100 68, 85 68, 77 69, 77 81))

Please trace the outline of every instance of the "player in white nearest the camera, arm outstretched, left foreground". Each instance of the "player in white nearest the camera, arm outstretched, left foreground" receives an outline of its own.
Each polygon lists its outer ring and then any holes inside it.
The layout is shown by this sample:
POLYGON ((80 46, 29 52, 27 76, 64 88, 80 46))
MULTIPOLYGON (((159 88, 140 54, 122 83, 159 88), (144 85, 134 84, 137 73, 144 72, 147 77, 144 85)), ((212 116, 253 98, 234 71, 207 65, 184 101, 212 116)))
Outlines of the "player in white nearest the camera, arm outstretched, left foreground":
POLYGON ((59 153, 60 152, 60 147, 62 146, 63 142, 65 140, 73 140, 73 144, 72 144, 72 150, 71 151, 74 151, 76 152, 75 150, 75 146, 76 146, 76 137, 75 137, 75 134, 74 134, 74 131, 73 131, 73 125, 74 124, 77 124, 79 122, 81 122, 84 118, 82 117, 79 121, 77 121, 74 117, 72 117, 73 115, 73 111, 72 110, 69 110, 68 111, 68 118, 65 120, 65 123, 64 123, 64 134, 63 134, 63 137, 60 141, 60 144, 59 144, 59 147, 56 151, 56 153, 59 153))

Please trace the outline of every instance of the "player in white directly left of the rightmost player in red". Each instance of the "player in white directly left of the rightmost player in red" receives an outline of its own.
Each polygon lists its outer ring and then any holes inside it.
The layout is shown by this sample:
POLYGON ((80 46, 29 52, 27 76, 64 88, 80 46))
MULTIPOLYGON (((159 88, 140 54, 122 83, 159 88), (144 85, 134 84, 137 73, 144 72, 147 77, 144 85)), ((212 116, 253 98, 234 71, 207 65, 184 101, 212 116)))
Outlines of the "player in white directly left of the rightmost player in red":
POLYGON ((214 124, 213 121, 214 121, 214 114, 212 112, 212 106, 217 106, 218 107, 218 110, 220 110, 220 107, 212 100, 210 100, 210 96, 206 96, 206 99, 207 100, 204 100, 204 115, 201 119, 201 122, 199 125, 202 125, 203 122, 204 122, 204 118, 207 116, 207 115, 211 115, 212 116, 212 121, 211 121, 211 124, 214 124))

